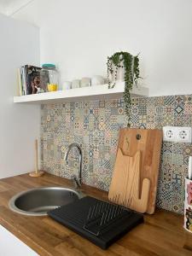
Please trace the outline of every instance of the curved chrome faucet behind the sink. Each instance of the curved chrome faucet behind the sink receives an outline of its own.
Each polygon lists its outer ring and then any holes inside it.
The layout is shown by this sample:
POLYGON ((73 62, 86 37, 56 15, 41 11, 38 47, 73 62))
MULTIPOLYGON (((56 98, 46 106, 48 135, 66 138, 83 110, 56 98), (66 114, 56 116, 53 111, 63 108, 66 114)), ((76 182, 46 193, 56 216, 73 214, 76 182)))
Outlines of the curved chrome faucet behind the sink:
POLYGON ((76 175, 73 176, 73 181, 75 182, 76 188, 81 187, 81 182, 82 182, 82 149, 80 148, 78 143, 72 143, 67 147, 66 154, 64 156, 64 160, 66 161, 68 165, 68 154, 71 151, 72 148, 78 148, 79 150, 79 177, 76 175))

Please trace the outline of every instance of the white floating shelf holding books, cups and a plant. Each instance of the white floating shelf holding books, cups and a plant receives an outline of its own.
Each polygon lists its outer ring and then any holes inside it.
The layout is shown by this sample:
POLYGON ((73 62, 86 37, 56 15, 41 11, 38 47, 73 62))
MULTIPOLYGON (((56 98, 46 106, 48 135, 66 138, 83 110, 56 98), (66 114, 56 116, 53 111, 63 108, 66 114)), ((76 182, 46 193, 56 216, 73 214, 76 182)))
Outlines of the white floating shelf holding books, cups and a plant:
MULTIPOLYGON (((57 102, 80 102, 90 100, 118 99, 123 96, 125 83, 119 83, 113 89, 108 89, 108 84, 92 87, 77 88, 71 90, 57 90, 26 96, 15 96, 15 103, 47 104, 57 102)), ((131 96, 148 96, 148 88, 143 86, 134 87, 131 96)))

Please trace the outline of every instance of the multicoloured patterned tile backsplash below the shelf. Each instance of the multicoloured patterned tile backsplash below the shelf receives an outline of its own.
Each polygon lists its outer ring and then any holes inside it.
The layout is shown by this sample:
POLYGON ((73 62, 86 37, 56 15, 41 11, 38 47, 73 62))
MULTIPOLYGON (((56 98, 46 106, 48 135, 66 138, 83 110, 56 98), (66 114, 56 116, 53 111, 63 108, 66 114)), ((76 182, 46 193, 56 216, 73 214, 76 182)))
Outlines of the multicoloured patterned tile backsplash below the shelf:
MULTIPOLYGON (((191 123, 192 96, 132 99, 131 127, 161 129, 164 125, 191 123)), ((84 183, 108 190, 119 129, 125 126, 122 99, 42 105, 41 166, 55 175, 71 177, 78 170, 78 155, 71 154, 68 166, 63 158, 70 143, 79 143, 83 148, 84 183)), ((191 154, 189 143, 163 143, 158 207, 183 213, 184 177, 191 154)))

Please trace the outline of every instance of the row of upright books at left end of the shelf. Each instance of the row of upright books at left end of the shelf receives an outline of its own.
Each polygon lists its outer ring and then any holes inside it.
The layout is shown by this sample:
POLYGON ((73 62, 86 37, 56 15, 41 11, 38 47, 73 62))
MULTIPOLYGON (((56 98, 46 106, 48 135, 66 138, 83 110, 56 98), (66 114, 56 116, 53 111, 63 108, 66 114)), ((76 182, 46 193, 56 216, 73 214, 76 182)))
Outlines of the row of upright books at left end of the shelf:
POLYGON ((20 96, 36 94, 41 90, 41 67, 25 65, 18 68, 19 94, 20 96))

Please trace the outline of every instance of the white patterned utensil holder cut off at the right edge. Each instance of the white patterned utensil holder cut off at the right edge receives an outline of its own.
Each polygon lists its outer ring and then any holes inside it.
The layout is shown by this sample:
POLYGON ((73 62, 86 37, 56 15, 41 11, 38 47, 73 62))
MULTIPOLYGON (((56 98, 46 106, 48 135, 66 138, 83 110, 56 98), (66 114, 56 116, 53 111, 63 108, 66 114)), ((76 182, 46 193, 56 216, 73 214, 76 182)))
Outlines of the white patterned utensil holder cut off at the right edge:
POLYGON ((192 180, 185 177, 184 225, 192 233, 192 180))

